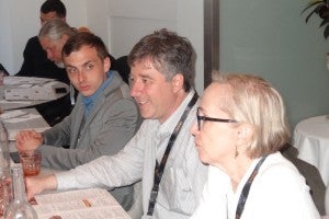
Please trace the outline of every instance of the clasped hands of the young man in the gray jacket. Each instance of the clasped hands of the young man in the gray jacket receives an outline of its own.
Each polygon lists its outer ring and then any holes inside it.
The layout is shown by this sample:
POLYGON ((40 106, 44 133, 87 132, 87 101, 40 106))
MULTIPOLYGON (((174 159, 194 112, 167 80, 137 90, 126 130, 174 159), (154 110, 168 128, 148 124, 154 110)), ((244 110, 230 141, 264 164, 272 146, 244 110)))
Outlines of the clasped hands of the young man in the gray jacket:
POLYGON ((15 136, 16 148, 19 151, 35 150, 43 141, 43 135, 35 130, 21 130, 15 136))

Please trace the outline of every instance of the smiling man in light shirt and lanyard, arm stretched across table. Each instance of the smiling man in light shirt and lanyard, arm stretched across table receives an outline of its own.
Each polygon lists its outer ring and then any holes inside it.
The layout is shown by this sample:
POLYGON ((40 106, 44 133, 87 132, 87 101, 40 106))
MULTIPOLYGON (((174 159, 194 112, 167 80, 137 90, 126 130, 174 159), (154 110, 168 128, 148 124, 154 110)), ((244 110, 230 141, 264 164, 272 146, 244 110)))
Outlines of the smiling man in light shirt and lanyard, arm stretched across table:
POLYGON ((111 188, 141 180, 143 218, 185 219, 193 214, 207 178, 189 132, 198 100, 193 47, 185 37, 160 30, 134 46, 128 64, 131 95, 145 118, 139 130, 115 155, 69 172, 27 177, 29 198, 44 189, 111 188))

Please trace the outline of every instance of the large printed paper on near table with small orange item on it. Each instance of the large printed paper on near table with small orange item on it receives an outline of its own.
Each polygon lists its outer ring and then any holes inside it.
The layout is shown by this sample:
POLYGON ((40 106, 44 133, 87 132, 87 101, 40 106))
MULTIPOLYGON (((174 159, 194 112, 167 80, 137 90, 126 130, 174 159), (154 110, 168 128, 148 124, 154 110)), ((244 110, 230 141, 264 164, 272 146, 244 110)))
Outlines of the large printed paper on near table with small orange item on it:
POLYGON ((102 188, 87 188, 35 196, 38 218, 121 218, 128 215, 118 203, 102 188), (69 198, 68 198, 69 197, 69 198))

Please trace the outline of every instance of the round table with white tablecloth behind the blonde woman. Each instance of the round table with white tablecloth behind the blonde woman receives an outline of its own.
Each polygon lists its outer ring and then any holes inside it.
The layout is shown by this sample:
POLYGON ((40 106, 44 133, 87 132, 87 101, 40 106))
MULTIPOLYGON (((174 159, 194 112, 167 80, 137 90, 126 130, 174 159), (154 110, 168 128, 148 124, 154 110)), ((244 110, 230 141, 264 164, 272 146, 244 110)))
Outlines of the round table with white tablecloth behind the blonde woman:
POLYGON ((294 130, 298 158, 315 165, 329 186, 329 116, 316 116, 299 122, 294 130))

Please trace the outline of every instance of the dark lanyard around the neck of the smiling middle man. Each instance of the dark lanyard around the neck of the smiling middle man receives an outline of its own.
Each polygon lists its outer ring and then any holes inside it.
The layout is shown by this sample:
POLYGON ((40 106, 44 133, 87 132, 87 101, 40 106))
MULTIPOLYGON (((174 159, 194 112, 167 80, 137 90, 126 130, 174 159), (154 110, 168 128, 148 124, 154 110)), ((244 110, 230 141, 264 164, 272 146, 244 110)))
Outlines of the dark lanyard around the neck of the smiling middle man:
POLYGON ((162 157, 162 160, 160 162, 160 164, 158 164, 158 162, 156 162, 156 169, 155 169, 155 180, 154 180, 154 186, 152 186, 152 189, 151 189, 151 193, 150 193, 150 197, 149 197, 149 204, 148 204, 148 210, 147 210, 147 215, 148 216, 152 216, 154 215, 154 210, 155 210, 155 205, 156 205, 156 201, 157 201, 157 197, 158 197, 158 192, 159 192, 159 184, 161 182, 161 177, 162 177, 162 174, 163 174, 163 170, 164 170, 164 166, 166 166, 166 163, 167 163, 167 159, 169 157, 169 153, 170 153, 170 150, 179 135, 179 132, 181 131, 182 129, 182 126, 191 111, 191 108, 194 106, 194 104, 196 103, 197 101, 197 94, 196 92, 194 93, 192 100, 190 101, 190 103, 188 104, 183 115, 181 116, 180 120, 178 122, 178 124, 175 125, 174 129, 173 129, 173 132, 171 134, 170 136, 170 139, 169 139, 169 142, 167 145, 167 148, 166 148, 166 151, 164 151, 164 154, 162 157))

